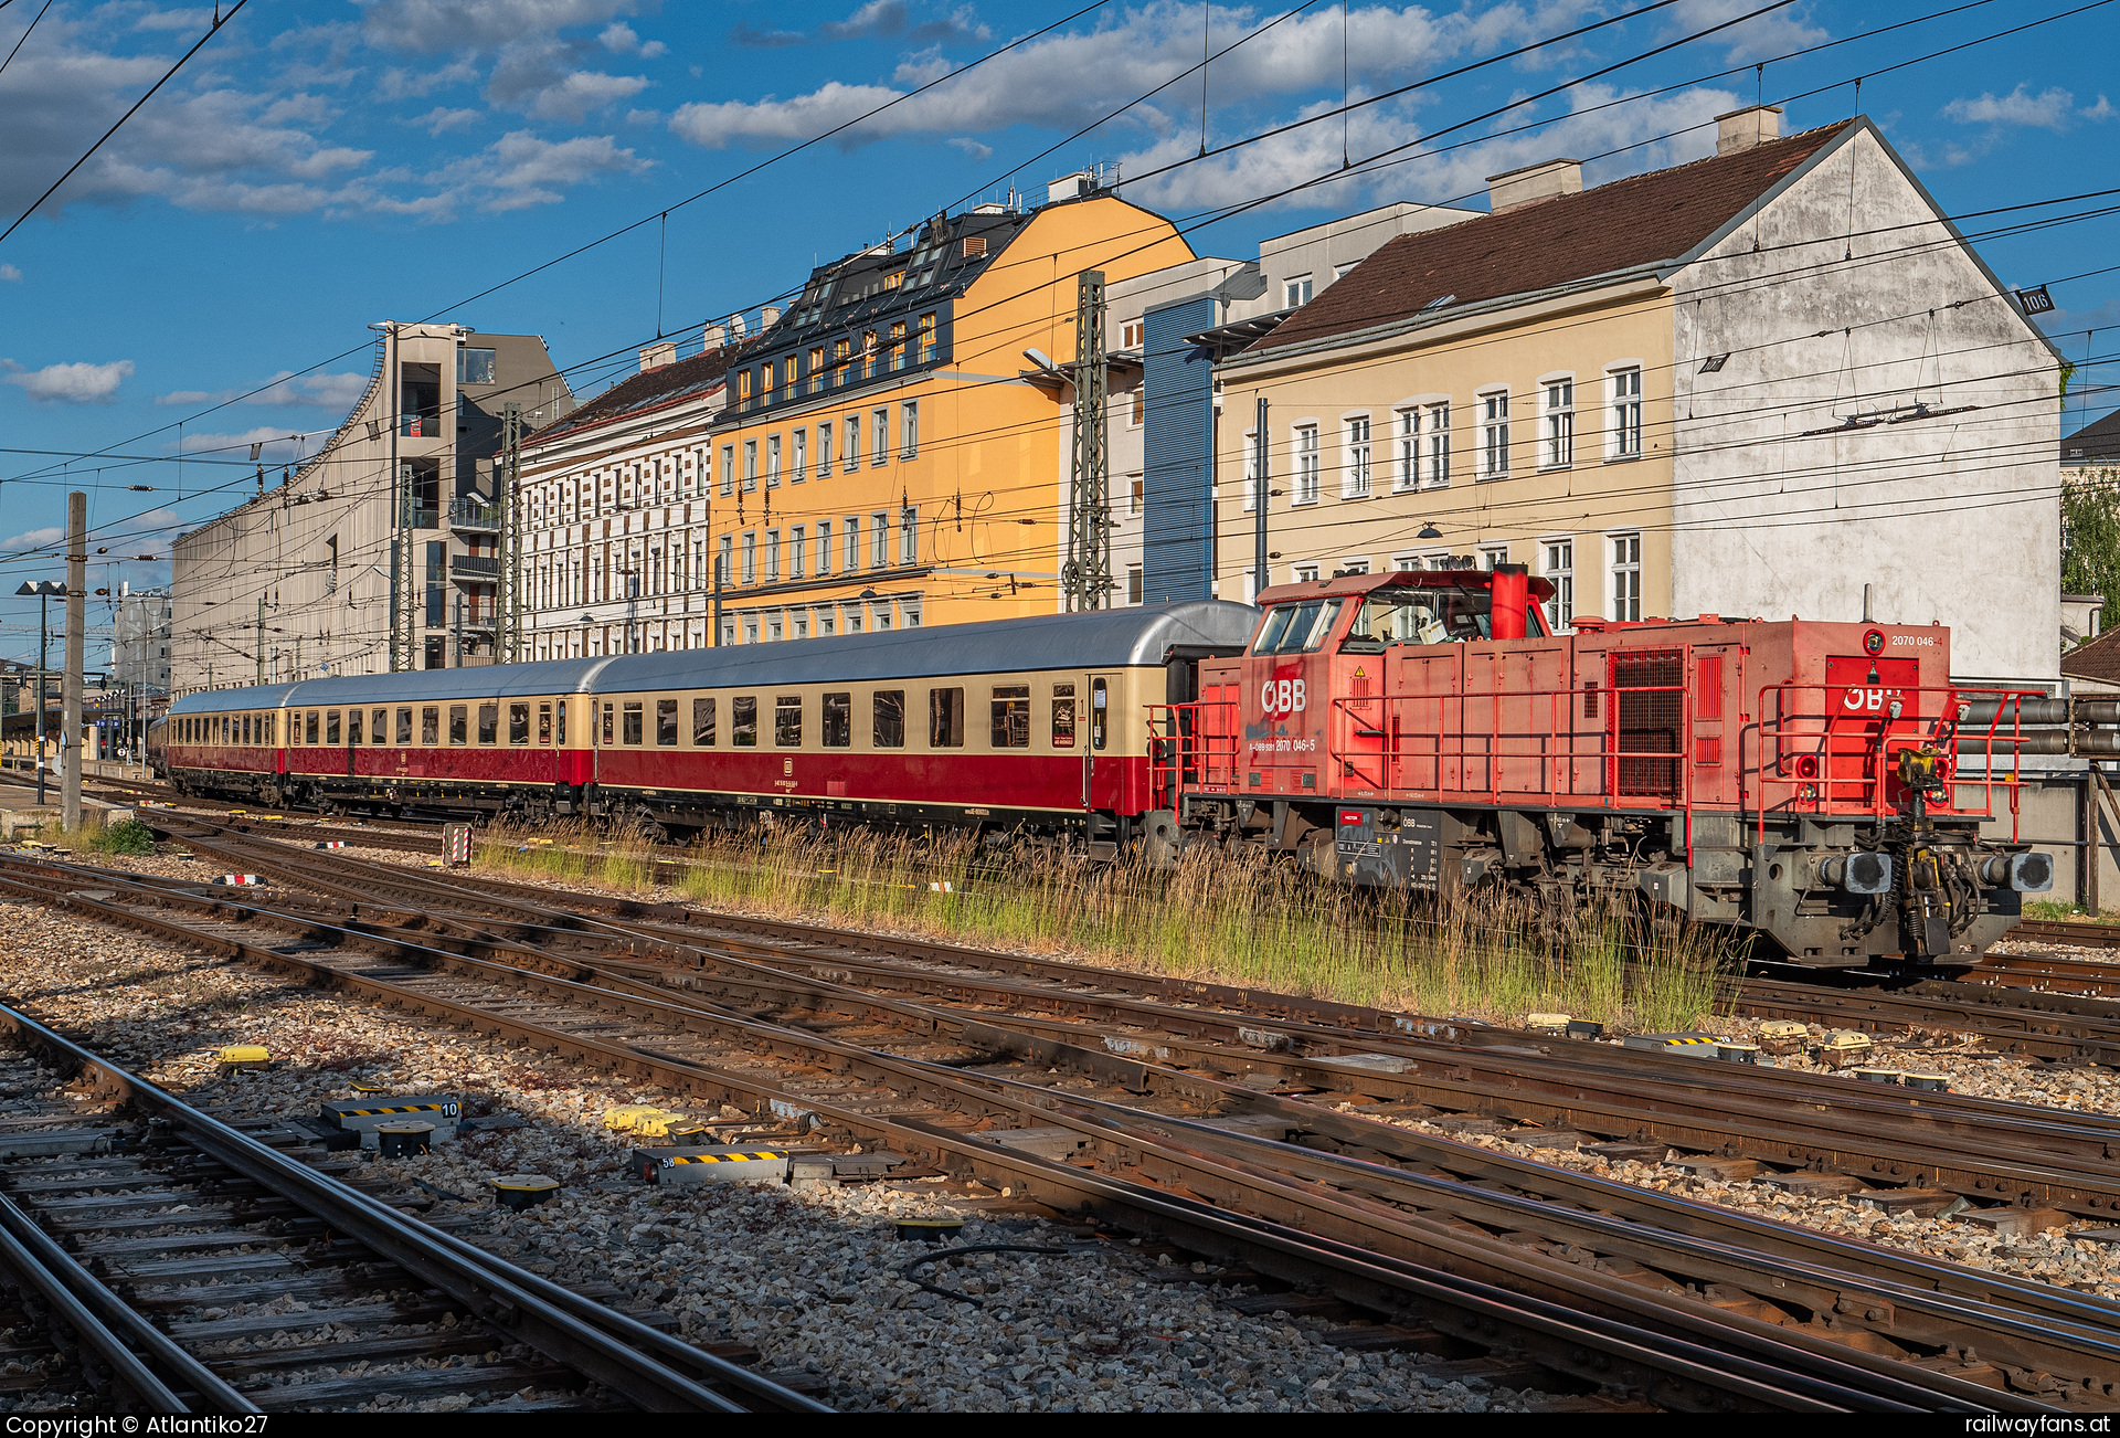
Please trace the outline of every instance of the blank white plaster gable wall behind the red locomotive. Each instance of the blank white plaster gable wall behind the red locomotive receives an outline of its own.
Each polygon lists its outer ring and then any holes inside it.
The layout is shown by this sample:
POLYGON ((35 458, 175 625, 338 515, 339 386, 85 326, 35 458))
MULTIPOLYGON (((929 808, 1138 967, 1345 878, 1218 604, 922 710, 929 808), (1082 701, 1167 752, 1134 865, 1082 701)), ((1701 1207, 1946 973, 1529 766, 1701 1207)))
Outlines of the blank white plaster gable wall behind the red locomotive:
POLYGON ((1936 214, 1863 123, 1673 278, 1673 613, 1853 621, 1868 583, 1957 677, 2054 681, 2056 361, 1936 214), (1804 437, 1916 403, 1978 409, 1804 437))

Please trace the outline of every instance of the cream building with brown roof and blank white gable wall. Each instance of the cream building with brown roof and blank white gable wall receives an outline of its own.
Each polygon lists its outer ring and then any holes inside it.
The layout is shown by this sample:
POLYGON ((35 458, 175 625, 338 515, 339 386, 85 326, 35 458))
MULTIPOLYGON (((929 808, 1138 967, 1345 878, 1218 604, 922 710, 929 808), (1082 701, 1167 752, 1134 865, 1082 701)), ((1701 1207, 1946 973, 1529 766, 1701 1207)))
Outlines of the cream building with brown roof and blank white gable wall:
POLYGON ((1950 624, 1961 677, 2054 679, 2022 636, 2059 624, 2059 356, 1868 119, 1495 176, 1217 375, 1221 598, 1255 581, 1264 399, 1272 583, 1516 562, 1556 626, 1868 604, 1950 624))

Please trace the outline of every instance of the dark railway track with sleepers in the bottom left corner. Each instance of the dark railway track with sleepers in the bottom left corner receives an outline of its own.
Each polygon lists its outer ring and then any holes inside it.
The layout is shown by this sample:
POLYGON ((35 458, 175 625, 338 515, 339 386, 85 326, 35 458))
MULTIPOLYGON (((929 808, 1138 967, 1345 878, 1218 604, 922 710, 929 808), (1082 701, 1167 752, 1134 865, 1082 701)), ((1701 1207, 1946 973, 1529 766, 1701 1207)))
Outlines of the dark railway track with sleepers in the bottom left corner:
MULTIPOLYGON (((823 1413, 638 1315, 562 1290, 301 1162, 310 1135, 229 1124, 0 1005, 45 1067, 0 1067, 0 1266, 148 1413, 331 1410, 464 1396, 481 1408, 823 1413), (70 1073, 81 1105, 49 1097, 70 1073), (307 1300, 288 1313, 199 1311, 307 1300), (301 1328, 307 1343, 250 1347, 301 1328), (379 1332, 384 1330, 384 1332, 379 1332), (233 1349, 233 1351, 231 1351, 233 1349), (329 1374, 329 1376, 320 1376, 329 1374)), ((613 1290, 615 1294, 615 1290, 613 1290)))

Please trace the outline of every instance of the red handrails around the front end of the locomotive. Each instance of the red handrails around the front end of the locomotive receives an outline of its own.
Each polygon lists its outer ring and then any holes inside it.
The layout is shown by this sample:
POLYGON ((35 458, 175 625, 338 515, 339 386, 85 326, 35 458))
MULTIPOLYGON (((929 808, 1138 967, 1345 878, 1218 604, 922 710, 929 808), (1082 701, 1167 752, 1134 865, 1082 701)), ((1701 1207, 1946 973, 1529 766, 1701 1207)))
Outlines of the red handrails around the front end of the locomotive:
MULTIPOLYGON (((1844 681, 1842 683, 1785 681, 1785 683, 1760 685, 1757 708, 1753 711, 1760 715, 1757 719, 1760 759, 1757 768, 1753 770, 1760 778, 1755 842, 1760 844, 1766 842, 1766 817, 1770 810, 1794 814, 1802 812, 1798 808, 1800 804, 1810 804, 1817 806, 1817 810, 1813 812, 1823 810, 1827 814, 1834 812, 1844 814, 1847 808, 1836 808, 1836 802, 1844 806, 1849 804, 1849 800, 1844 797, 1836 800, 1836 791, 1844 791, 1851 785, 1855 787, 1853 804, 1861 812, 1868 812, 1874 819, 1883 821, 1889 812, 1893 812, 1889 804, 1893 755, 1904 749, 1919 749, 1931 740, 1946 749, 1944 757, 1946 768, 1942 785, 1946 797, 1942 804, 1955 817, 1961 819, 1995 819, 1995 789, 2003 789, 2010 795, 2010 842, 2018 842, 2016 791, 2022 789, 2022 781, 2018 778, 2016 766, 2010 768, 2008 776, 2003 778, 1995 776, 1995 747, 1997 742, 2006 747, 2022 744, 2025 730, 2020 719, 2020 704, 2008 704, 2008 700, 2020 700, 2020 698, 2046 698, 2046 694, 2039 689, 1961 689, 1959 685, 1851 685, 1844 681), (1847 715, 1842 715, 1834 708, 1830 698, 1830 694, 1836 689, 1842 694, 1859 694, 1859 696, 1876 691, 1880 696, 1880 702, 1887 689, 1895 698, 1942 694, 1944 702, 1940 706, 1940 713, 1933 715, 1906 713, 1906 706, 1902 706, 1900 715, 1891 715, 1889 711, 1880 708, 1872 717, 1868 704, 1863 704, 1861 708, 1853 708, 1842 700, 1842 708, 1847 711, 1847 715), (1791 706, 1791 698, 1802 696, 1806 691, 1817 691, 1819 696, 1817 711, 1791 706), (1774 698, 1772 711, 1768 708, 1768 696, 1774 698), (1967 725, 1959 715, 1969 713, 1969 700, 1982 696, 1993 696, 1995 700, 2001 702, 1995 704, 1984 727, 1972 725, 1976 732, 1967 734, 1967 725), (2003 713, 2010 713, 2008 725, 2003 725, 2001 721, 2003 713), (1849 757, 1853 751, 1834 749, 1832 744, 1832 740, 1836 738, 1834 719, 1851 715, 1863 715, 1861 719, 1863 730, 1859 732, 1863 744, 1861 772, 1836 774, 1834 759, 1849 757), (1804 721, 1815 723, 1817 727, 1815 730, 1789 727, 1794 723, 1804 723, 1804 721), (1880 725, 1874 736, 1868 732, 1870 723, 1880 725), (1976 753, 1980 757, 1978 781, 1967 781, 1959 776, 1963 768, 1959 755, 1965 751, 1967 738, 1976 740, 1976 749, 1972 749, 1969 753, 1976 753), (1796 740, 1808 740, 1808 744, 1798 749, 1796 740), (1768 744, 1772 744, 1774 749, 1772 757, 1768 757, 1768 744), (1815 761, 1813 772, 1808 774, 1785 772, 1785 766, 1789 766, 1791 761, 1800 766, 1802 759, 1815 761), (1794 789, 1794 793, 1789 793, 1789 797, 1783 800, 1781 804, 1772 804, 1768 800, 1770 785, 1794 789), (1976 789, 1976 787, 1980 789, 1980 808, 1978 810, 1961 808, 1957 797, 1959 789, 1976 789), (1806 789, 1808 797, 1804 793, 1806 789)), ((1925 706, 1914 704, 1912 708, 1919 711, 1925 706)), ((1857 732, 1842 730, 1840 734, 1847 738, 1855 738, 1857 732)), ((2020 759, 2022 755, 2006 755, 2006 757, 2020 759)))

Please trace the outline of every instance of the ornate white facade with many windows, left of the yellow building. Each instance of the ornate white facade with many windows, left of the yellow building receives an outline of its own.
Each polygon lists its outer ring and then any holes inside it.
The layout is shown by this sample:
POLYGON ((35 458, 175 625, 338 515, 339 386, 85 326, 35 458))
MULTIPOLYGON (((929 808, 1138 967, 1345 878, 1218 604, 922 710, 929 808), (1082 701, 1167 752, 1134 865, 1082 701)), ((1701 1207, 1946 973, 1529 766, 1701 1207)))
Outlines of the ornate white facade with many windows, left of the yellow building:
POLYGON ((526 657, 712 647, 708 424, 723 394, 717 384, 524 450, 526 657))

